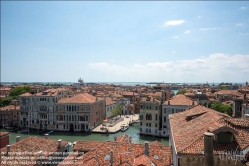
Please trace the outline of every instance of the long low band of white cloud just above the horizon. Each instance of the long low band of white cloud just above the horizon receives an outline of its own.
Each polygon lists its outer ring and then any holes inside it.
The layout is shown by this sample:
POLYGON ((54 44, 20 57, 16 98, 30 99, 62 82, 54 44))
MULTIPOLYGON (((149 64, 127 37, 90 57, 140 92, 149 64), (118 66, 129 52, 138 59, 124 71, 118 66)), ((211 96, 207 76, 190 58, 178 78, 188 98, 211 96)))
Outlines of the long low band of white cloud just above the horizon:
POLYGON ((96 78, 105 75, 110 81, 115 79, 127 82, 162 80, 166 82, 241 82, 249 75, 249 55, 215 53, 192 60, 135 63, 125 67, 106 62, 90 63, 88 66, 92 73, 97 73, 96 78))

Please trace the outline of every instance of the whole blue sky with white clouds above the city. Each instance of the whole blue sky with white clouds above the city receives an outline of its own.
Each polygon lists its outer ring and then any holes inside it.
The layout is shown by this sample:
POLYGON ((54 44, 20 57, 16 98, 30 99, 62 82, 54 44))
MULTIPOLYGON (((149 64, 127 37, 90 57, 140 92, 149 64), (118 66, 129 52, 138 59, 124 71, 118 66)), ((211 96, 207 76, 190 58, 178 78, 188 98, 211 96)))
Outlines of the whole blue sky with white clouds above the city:
POLYGON ((1 82, 246 82, 248 1, 1 1, 1 82))

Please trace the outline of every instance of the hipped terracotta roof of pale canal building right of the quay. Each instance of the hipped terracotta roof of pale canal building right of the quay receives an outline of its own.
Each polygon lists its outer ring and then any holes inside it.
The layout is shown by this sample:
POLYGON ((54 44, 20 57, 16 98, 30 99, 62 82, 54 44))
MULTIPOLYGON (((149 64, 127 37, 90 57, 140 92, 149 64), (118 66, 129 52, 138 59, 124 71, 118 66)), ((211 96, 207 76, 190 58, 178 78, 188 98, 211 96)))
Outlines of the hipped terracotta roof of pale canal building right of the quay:
MULTIPOLYGON (((193 100, 186 97, 185 95, 183 94, 179 94, 179 95, 176 95, 174 97, 172 97, 171 99, 169 99, 170 101, 170 105, 192 105, 193 104, 193 100)), ((197 105, 198 103, 196 101, 194 101, 194 105, 197 105)), ((163 105, 168 105, 168 101, 165 101, 163 103, 163 105)))

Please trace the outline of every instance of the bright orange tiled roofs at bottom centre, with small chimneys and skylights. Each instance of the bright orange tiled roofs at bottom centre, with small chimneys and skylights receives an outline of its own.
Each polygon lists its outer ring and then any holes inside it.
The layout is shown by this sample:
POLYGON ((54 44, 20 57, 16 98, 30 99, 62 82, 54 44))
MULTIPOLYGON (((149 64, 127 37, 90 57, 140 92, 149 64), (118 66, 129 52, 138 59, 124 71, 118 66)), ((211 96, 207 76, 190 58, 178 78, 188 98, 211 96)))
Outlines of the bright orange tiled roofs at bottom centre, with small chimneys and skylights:
POLYGON ((171 147, 158 141, 134 144, 130 137, 121 136, 116 141, 76 141, 74 153, 63 160, 59 166, 68 163, 73 166, 170 166, 171 147))

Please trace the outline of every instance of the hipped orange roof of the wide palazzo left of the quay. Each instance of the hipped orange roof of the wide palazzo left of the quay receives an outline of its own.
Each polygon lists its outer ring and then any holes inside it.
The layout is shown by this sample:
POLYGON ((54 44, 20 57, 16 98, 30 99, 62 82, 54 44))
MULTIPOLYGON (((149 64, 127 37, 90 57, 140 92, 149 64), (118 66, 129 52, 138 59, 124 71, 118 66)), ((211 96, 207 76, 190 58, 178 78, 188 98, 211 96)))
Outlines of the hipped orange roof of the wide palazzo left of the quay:
MULTIPOLYGON (((98 97, 98 100, 102 98, 98 97)), ((97 99, 95 96, 92 96, 88 93, 78 94, 76 96, 70 98, 61 98, 58 103, 92 103, 95 102, 97 99)))

